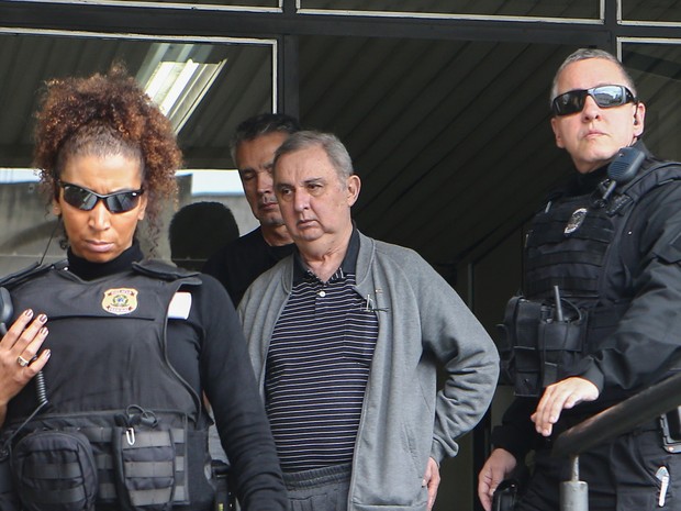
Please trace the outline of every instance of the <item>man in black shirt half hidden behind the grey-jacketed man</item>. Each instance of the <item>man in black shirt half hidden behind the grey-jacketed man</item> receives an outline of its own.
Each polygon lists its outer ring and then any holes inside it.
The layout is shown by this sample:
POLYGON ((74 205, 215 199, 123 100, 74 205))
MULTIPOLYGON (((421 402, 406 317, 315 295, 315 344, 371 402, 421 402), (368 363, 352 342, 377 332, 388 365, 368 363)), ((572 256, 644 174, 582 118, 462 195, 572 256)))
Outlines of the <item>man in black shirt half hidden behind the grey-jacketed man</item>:
POLYGON ((233 137, 232 159, 236 164, 246 200, 260 226, 228 243, 203 266, 225 287, 234 307, 250 282, 293 252, 272 189, 275 151, 300 130, 298 121, 281 113, 264 113, 243 121, 233 137))

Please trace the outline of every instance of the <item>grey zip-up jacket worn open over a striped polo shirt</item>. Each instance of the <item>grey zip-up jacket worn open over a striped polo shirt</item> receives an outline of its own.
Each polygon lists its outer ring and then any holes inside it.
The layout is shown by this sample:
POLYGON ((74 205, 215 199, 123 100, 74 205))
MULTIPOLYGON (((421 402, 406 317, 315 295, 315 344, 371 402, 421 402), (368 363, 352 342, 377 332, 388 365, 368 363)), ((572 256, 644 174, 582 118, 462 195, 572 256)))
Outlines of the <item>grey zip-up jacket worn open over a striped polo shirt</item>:
MULTIPOLYGON (((263 392, 267 351, 291 292, 293 256, 263 274, 239 304, 263 392)), ((428 457, 455 456, 456 438, 490 404, 499 376, 491 338, 454 289, 414 251, 360 234, 357 292, 379 335, 357 433, 348 511, 425 510, 428 457), (436 387, 438 367, 446 373, 436 387)))

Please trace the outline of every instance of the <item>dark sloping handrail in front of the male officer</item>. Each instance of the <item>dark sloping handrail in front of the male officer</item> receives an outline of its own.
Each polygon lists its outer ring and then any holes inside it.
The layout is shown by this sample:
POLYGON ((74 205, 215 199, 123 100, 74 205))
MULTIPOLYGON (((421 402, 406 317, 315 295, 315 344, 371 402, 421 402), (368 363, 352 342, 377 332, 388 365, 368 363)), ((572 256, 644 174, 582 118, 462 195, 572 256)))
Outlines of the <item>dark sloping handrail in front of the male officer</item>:
POLYGON ((552 455, 579 455, 680 404, 681 373, 678 373, 562 432, 554 443, 552 455))

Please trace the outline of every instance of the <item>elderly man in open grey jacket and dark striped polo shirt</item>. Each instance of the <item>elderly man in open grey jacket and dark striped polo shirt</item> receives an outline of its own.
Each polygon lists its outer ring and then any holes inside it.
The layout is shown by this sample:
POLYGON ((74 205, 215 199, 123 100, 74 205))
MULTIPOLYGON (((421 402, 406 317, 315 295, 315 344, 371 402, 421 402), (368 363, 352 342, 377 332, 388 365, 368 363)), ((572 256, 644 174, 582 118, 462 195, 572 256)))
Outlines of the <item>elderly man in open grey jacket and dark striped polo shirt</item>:
POLYGON ((292 510, 429 510, 440 460, 492 399, 496 348, 415 252, 357 231, 338 138, 291 135, 273 179, 298 251, 239 314, 292 510))

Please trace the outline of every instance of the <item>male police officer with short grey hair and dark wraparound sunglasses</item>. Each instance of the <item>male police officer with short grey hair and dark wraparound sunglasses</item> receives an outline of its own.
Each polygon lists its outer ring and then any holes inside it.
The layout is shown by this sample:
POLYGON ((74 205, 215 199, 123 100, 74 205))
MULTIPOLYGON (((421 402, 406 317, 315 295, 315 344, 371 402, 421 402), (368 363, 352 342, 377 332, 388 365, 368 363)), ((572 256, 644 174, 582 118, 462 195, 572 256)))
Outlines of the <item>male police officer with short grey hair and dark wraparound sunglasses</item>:
MULTIPOLYGON (((551 108, 577 175, 533 220, 523 293, 506 309, 502 358, 516 398, 479 474, 487 511, 531 451, 513 509, 558 510, 570 462, 551 457, 551 440, 669 376, 681 354, 681 165, 640 142, 645 105, 606 52, 579 49, 563 62, 551 108)), ((579 463, 591 511, 681 509, 681 457, 663 445, 658 421, 579 463)))

